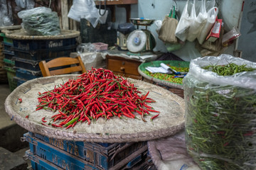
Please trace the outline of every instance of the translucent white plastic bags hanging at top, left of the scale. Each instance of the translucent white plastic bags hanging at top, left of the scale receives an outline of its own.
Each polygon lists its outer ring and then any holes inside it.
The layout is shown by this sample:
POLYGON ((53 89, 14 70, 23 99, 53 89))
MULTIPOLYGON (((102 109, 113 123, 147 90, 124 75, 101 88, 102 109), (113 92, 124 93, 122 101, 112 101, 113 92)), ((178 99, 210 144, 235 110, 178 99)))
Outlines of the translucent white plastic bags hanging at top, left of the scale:
MULTIPOLYGON (((102 13, 101 9, 101 13, 102 13)), ((68 12, 68 18, 72 18, 75 21, 80 22, 81 18, 85 18, 95 28, 97 23, 105 23, 107 20, 107 13, 100 16, 99 9, 96 8, 95 1, 93 0, 74 0, 73 5, 68 12)))

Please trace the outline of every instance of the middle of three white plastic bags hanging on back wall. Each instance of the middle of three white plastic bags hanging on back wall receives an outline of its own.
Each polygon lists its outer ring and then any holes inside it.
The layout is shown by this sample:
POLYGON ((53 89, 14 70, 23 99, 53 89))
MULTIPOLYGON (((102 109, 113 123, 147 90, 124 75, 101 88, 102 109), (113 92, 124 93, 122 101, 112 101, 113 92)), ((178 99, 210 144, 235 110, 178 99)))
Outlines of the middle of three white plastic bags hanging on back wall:
POLYGON ((189 28, 189 33, 187 38, 188 41, 193 42, 194 40, 196 40, 203 26, 205 26, 206 21, 207 21, 206 0, 202 0, 198 16, 196 16, 196 1, 193 0, 193 6, 191 8, 191 26, 189 28))

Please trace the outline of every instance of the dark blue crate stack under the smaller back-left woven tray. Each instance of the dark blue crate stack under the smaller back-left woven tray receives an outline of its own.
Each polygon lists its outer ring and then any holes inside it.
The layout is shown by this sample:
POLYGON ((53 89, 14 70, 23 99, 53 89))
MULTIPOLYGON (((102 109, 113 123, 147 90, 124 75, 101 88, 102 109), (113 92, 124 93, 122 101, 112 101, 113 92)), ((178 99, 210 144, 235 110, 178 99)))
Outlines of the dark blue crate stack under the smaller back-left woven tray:
POLYGON ((76 50, 75 38, 59 40, 14 40, 14 60, 17 85, 42 77, 38 65, 41 60, 70 56, 76 50))

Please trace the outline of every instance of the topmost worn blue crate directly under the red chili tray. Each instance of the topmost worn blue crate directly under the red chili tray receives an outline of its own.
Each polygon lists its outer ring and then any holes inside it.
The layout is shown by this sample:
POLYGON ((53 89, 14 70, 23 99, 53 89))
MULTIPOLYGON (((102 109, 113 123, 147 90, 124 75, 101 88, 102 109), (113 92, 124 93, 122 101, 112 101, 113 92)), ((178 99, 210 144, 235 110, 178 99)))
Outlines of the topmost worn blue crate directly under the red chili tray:
MULTIPOLYGON (((102 145, 95 142, 75 142, 68 140, 58 140, 43 135, 38 135, 32 132, 29 132, 29 135, 24 134, 24 137, 28 138, 28 142, 30 142, 31 152, 33 151, 34 154, 42 153, 41 150, 38 151, 36 148, 38 148, 39 143, 44 143, 45 145, 48 145, 48 147, 60 149, 68 155, 78 157, 78 159, 82 160, 82 162, 86 162, 85 164, 93 166, 96 169, 110 169, 114 168, 115 166, 119 166, 120 164, 126 165, 129 161, 132 161, 132 159, 134 159, 134 157, 132 157, 132 154, 134 154, 138 150, 139 152, 144 152, 145 147, 147 149, 146 142, 135 142, 134 144, 114 143, 110 144, 108 147, 102 147, 102 145), (33 144, 31 145, 33 141, 37 142, 37 146, 33 144), (131 157, 131 159, 129 160, 127 159, 127 157, 131 157)), ((43 148, 43 152, 48 152, 48 149, 43 148)))

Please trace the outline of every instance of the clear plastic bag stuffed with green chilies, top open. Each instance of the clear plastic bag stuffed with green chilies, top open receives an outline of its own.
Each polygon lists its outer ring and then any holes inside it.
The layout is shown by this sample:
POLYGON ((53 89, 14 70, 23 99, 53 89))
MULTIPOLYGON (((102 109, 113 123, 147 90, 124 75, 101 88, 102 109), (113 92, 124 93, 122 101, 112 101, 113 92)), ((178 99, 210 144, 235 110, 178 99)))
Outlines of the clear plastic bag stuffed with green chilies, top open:
POLYGON ((183 79, 186 147, 201 169, 256 169, 255 69, 230 55, 191 61, 183 79), (218 67, 203 69, 209 65, 218 67))

